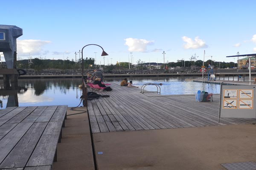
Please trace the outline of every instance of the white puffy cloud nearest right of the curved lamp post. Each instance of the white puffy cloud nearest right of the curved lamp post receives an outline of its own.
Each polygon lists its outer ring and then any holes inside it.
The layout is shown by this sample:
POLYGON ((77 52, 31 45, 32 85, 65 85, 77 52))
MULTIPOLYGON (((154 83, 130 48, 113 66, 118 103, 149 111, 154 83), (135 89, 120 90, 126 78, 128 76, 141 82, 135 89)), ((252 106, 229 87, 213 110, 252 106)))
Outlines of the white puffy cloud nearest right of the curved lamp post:
POLYGON ((147 52, 147 45, 152 45, 154 41, 148 41, 137 38, 126 38, 125 45, 129 48, 129 51, 147 52))

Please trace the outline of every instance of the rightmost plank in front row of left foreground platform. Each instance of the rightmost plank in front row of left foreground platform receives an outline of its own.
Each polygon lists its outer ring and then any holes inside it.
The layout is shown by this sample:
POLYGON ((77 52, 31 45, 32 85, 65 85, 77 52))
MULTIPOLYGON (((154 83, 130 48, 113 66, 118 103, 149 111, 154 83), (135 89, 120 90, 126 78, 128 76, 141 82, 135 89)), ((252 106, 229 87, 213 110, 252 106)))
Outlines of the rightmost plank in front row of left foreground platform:
POLYGON ((62 122, 49 122, 29 158, 27 167, 52 165, 62 122))

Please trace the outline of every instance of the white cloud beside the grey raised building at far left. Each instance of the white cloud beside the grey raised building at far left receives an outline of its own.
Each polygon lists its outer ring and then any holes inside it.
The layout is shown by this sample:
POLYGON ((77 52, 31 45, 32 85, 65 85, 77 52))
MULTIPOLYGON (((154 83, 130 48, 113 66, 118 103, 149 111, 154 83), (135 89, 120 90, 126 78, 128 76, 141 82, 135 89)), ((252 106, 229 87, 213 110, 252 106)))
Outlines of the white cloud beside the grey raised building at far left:
POLYGON ((19 56, 45 54, 42 46, 49 43, 42 40, 17 40, 17 52, 19 56))

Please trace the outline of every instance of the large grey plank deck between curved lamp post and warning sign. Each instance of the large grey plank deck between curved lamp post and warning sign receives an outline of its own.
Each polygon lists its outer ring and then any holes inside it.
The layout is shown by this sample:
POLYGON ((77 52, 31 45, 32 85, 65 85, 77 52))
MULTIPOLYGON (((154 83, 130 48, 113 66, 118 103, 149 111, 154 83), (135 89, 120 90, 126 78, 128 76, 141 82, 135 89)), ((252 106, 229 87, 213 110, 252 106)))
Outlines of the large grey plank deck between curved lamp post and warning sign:
POLYGON ((213 102, 196 102, 195 95, 141 94, 140 88, 108 83, 113 91, 99 94, 110 97, 88 100, 93 133, 255 123, 235 118, 221 118, 218 123, 219 95, 213 102))

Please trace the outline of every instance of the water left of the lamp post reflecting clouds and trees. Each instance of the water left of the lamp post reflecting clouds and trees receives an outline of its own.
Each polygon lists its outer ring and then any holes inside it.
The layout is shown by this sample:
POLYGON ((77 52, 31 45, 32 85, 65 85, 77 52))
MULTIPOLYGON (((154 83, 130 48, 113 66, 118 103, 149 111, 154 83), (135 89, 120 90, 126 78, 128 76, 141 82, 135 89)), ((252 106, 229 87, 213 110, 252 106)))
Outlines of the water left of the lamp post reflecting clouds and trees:
MULTIPOLYGON (((1 80, 3 85, 3 80, 1 80)), ((19 79, 19 90, 0 90, 3 108, 10 106, 68 105, 81 102, 81 79, 19 79)))

